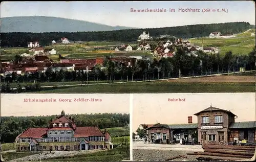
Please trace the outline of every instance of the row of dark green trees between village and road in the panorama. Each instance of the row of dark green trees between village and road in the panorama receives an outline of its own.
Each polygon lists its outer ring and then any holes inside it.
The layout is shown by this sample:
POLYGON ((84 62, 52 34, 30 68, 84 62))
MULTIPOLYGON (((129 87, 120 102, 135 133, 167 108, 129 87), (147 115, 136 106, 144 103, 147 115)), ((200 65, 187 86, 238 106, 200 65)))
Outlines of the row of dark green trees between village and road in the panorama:
MULTIPOLYGON (((167 79, 178 77, 189 77, 199 75, 210 75, 219 73, 238 72, 243 67, 244 70, 255 70, 255 47, 247 55, 233 55, 231 51, 223 57, 219 53, 209 54, 202 51, 197 52, 197 56, 187 52, 186 48, 175 47, 176 54, 172 58, 154 57, 149 59, 133 60, 127 66, 123 62, 111 60, 111 56, 106 56, 103 65, 97 64, 92 71, 52 71, 48 67, 45 73, 35 72, 32 74, 17 75, 15 72, 6 77, 1 76, 2 92, 10 92, 10 83, 42 83, 42 82, 72 82, 79 81, 82 84, 88 81, 139 81, 152 79, 167 79)), ((26 90, 39 90, 39 84, 28 84, 26 90)), ((22 91, 22 86, 18 84, 17 92, 22 91)))

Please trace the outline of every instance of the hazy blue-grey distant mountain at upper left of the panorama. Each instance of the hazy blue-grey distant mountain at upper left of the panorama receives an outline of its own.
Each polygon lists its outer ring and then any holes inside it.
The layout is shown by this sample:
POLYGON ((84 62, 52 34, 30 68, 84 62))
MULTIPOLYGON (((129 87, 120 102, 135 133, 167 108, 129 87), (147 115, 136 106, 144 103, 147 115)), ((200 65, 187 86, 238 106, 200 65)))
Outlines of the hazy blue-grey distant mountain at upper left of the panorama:
POLYGON ((95 22, 48 16, 17 16, 1 18, 1 33, 6 32, 90 32, 134 29, 108 26, 95 22))

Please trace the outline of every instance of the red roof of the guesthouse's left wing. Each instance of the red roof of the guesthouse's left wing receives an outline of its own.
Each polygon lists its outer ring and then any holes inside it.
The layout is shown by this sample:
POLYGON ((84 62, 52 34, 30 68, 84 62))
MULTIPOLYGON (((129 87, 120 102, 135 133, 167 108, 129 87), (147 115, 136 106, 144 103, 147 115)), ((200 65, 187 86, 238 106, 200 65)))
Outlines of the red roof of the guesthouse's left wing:
POLYGON ((47 128, 29 128, 25 132, 23 132, 19 138, 41 138, 46 135, 47 128))

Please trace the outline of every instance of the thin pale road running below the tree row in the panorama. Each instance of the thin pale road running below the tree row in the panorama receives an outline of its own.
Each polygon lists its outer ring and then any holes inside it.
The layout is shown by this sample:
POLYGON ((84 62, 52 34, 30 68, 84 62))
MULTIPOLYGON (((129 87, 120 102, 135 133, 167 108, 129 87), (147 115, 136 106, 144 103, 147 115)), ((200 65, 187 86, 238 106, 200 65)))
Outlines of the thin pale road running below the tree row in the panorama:
MULTIPOLYGON (((245 71, 245 72, 254 72, 254 71, 245 71)), ((245 73, 245 72, 234 72, 234 73, 245 73)), ((153 81, 160 81, 160 80, 173 80, 173 79, 186 79, 186 78, 198 78, 198 77, 206 77, 206 76, 221 76, 221 75, 226 75, 228 73, 222 73, 222 74, 212 74, 212 75, 202 75, 202 76, 194 76, 194 77, 182 77, 182 78, 166 78, 166 79, 155 79, 155 80, 150 80, 151 82, 153 81)), ((229 73, 233 74, 233 73, 229 73)), ((41 86, 41 88, 50 88, 50 87, 73 87, 73 86, 89 86, 89 85, 104 85, 104 84, 121 84, 121 83, 137 83, 137 82, 147 82, 147 81, 128 81, 128 82, 112 82, 112 83, 91 83, 91 84, 72 84, 72 85, 51 85, 51 86, 41 86)), ((11 88, 12 90, 15 90, 17 88, 11 88)), ((23 87, 22 89, 26 89, 23 87)))

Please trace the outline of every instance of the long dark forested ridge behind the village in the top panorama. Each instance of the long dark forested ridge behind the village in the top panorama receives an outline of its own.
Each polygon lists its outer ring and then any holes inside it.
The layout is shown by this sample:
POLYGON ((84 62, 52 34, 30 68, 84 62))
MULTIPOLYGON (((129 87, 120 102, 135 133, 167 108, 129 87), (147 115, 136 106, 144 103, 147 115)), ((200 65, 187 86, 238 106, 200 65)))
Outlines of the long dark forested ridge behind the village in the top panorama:
POLYGON ((150 36, 158 37, 168 34, 181 38, 209 36, 211 32, 237 34, 255 28, 249 22, 227 22, 224 24, 189 25, 181 27, 127 29, 105 32, 52 32, 52 33, 1 33, 2 47, 26 47, 28 41, 39 41, 41 45, 49 45, 52 40, 58 41, 67 37, 71 41, 136 41, 143 31, 150 36))

